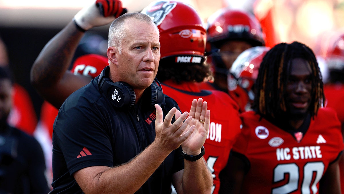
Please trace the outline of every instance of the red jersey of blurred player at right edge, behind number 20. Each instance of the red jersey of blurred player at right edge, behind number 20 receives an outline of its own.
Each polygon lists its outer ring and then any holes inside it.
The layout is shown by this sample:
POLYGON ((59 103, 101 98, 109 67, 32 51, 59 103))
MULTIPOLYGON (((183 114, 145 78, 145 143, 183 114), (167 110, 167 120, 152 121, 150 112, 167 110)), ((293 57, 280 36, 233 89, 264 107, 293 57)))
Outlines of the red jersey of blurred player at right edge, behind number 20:
MULTIPOLYGON (((324 94, 326 106, 333 108, 337 112, 339 121, 344 124, 344 85, 343 84, 325 84, 324 94)), ((342 126, 343 128, 343 126, 342 126)), ((344 131, 342 131, 344 133, 344 131)), ((341 189, 344 193, 344 155, 339 163, 341 169, 341 189)))

